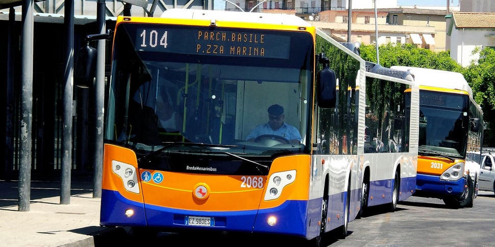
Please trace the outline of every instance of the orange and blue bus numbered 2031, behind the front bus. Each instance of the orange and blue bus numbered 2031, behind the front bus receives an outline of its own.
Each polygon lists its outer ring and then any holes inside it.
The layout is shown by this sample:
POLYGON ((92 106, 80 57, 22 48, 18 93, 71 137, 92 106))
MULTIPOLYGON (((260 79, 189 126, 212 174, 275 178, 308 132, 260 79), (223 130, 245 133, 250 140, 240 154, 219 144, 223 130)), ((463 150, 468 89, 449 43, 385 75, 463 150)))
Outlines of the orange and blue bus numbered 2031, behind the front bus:
POLYGON ((452 208, 473 207, 483 138, 483 112, 462 74, 405 66, 417 81, 419 149, 413 196, 442 199, 452 208))

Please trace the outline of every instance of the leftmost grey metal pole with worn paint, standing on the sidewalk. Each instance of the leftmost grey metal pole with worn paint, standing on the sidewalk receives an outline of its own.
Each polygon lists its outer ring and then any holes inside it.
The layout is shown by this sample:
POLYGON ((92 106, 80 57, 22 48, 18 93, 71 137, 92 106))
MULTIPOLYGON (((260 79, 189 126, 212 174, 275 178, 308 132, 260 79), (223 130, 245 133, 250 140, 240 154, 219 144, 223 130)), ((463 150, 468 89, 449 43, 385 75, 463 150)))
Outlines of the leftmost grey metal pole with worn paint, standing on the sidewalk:
POLYGON ((21 119, 19 211, 29 211, 31 200, 32 119, 33 119, 33 0, 22 0, 21 33, 21 119))

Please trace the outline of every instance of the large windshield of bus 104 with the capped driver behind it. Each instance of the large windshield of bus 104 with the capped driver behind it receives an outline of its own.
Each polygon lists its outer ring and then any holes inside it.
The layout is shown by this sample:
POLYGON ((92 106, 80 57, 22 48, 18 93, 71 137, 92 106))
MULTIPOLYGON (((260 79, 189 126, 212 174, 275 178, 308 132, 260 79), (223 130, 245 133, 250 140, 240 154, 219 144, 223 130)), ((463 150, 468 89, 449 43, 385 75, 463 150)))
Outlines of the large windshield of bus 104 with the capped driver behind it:
POLYGON ((107 142, 146 153, 309 152, 310 34, 122 23, 114 44, 107 142), (271 105, 282 110, 269 114, 271 105), (248 141, 270 118, 293 126, 299 142, 276 131, 248 141))

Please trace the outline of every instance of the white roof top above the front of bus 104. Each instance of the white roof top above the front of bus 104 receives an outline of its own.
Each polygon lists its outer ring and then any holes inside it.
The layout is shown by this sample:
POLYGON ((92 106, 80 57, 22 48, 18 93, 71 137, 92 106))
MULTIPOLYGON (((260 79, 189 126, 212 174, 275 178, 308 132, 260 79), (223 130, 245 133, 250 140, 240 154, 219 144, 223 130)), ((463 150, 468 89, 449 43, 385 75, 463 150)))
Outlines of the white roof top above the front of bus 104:
POLYGON ((169 9, 160 17, 195 20, 222 20, 264 24, 283 24, 294 26, 311 26, 299 16, 290 14, 237 12, 224 10, 169 9))

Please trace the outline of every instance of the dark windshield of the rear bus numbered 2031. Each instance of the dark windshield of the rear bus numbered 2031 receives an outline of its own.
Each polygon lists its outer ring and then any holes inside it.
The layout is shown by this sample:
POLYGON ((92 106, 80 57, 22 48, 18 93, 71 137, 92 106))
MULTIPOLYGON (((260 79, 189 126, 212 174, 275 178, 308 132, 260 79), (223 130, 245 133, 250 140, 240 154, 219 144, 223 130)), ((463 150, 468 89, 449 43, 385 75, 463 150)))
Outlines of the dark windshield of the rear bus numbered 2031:
POLYGON ((468 132, 467 95, 420 92, 420 151, 465 157, 468 132))

